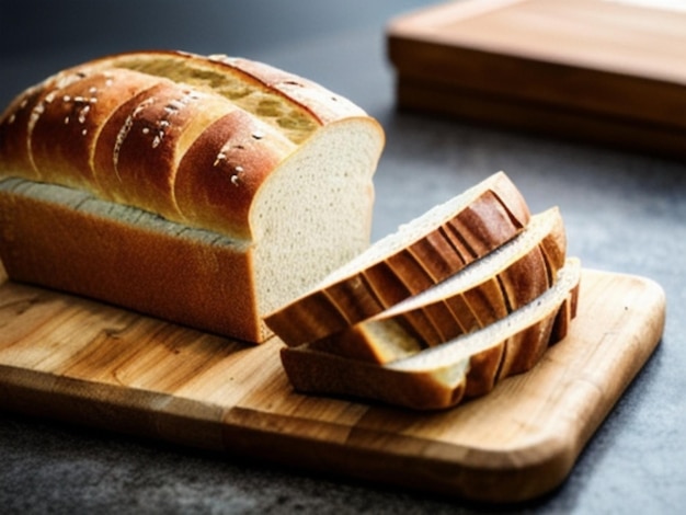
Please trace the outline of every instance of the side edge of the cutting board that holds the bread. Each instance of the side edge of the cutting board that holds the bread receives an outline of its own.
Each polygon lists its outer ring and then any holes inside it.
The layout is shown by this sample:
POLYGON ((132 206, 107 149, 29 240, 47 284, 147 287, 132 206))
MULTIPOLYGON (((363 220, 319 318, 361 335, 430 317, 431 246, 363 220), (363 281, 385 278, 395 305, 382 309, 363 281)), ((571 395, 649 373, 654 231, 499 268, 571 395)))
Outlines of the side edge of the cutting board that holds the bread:
MULTIPOLYGON (((618 274, 584 270, 584 276, 590 275, 603 279, 618 274)), ((661 341, 664 290, 651 279, 625 277, 641 286, 641 298, 650 308, 632 317, 631 323, 641 327, 650 321, 650 331, 633 354, 624 355, 629 366, 609 392, 611 402, 596 403, 584 419, 586 423, 570 427, 565 438, 544 435, 533 447, 499 453, 495 460, 489 449, 466 449, 374 427, 355 427, 350 433, 350 427, 334 427, 340 440, 324 439, 318 435, 331 434, 335 424, 241 405, 204 404, 153 391, 132 392, 114 385, 95 386, 99 399, 106 400, 103 407, 90 402, 93 385, 83 388, 87 381, 9 366, 0 366, 0 408, 470 501, 527 501, 564 481, 587 440, 661 341)))

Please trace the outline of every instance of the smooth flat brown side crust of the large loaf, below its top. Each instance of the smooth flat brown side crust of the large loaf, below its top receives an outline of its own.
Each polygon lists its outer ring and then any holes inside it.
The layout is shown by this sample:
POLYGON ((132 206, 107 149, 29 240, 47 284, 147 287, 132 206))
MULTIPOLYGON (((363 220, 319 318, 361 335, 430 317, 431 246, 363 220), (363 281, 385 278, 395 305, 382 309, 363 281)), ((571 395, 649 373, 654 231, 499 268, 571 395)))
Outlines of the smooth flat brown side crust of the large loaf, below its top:
POLYGON ((7 192, 0 192, 0 228, 2 240, 12 242, 0 247, 0 258, 13 281, 245 341, 265 337, 244 249, 163 234, 7 192))

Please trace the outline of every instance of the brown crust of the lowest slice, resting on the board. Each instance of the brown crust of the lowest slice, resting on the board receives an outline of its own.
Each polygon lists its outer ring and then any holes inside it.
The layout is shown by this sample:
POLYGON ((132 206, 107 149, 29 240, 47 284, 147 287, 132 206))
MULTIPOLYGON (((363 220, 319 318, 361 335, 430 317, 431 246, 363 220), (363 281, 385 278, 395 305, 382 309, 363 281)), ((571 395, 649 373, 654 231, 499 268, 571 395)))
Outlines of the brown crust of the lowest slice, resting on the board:
MULTIPOLYGON (((281 358, 286 374, 300 393, 382 402, 419 411, 444 410, 488 394, 505 377, 534 367, 551 343, 553 325, 568 318, 575 290, 541 320, 503 341, 472 354, 461 376, 446 381, 444 370, 402 370, 385 365, 348 359, 309 345, 285 346, 281 358)), ((569 327, 567 319, 562 325, 569 327)), ((449 368, 449 367, 448 367, 449 368)))

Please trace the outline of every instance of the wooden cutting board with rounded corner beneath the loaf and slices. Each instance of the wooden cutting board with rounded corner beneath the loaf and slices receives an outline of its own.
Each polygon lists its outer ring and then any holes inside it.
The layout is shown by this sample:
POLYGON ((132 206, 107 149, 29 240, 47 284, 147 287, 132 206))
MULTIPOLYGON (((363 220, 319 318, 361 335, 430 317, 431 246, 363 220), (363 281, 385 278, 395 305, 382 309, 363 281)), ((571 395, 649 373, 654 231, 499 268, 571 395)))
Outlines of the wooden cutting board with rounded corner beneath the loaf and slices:
POLYGON ((655 283, 584 270, 572 331, 537 367, 416 413, 294 393, 276 339, 250 346, 0 283, 2 409, 491 502, 563 482, 665 319, 655 283))

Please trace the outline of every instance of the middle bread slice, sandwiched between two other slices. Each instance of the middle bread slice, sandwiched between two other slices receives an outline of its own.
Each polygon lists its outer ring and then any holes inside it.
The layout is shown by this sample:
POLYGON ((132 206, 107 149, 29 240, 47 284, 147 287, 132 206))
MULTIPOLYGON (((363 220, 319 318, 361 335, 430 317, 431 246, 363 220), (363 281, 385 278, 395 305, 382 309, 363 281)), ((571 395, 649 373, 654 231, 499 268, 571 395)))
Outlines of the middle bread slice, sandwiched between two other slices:
POLYGON ((567 236, 557 207, 531 217, 525 229, 443 283, 309 348, 388 363, 482 329, 535 300, 564 265, 567 236))

